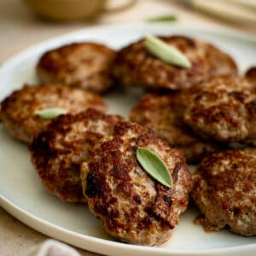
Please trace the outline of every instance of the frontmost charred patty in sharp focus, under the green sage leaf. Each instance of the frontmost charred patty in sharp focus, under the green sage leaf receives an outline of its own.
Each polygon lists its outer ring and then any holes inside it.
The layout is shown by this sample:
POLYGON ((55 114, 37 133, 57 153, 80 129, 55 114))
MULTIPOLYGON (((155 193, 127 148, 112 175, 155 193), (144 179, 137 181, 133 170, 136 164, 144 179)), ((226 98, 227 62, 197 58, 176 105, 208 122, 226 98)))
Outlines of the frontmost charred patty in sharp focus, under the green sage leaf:
POLYGON ((81 173, 90 211, 119 241, 160 245, 170 238, 179 215, 188 207, 191 175, 183 154, 141 125, 116 125, 113 136, 96 145, 81 173), (166 163, 172 189, 143 170, 137 147, 150 149, 166 163))

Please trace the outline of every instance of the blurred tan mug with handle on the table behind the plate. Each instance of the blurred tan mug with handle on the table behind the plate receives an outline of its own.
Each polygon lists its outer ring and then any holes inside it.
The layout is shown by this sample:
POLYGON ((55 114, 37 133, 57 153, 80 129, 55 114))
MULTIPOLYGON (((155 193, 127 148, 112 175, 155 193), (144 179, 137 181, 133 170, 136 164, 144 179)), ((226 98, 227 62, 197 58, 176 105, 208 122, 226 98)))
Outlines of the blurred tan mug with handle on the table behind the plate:
POLYGON ((104 11, 126 9, 137 0, 23 0, 36 14, 48 20, 93 19, 104 11), (114 3, 115 2, 115 3, 114 3))

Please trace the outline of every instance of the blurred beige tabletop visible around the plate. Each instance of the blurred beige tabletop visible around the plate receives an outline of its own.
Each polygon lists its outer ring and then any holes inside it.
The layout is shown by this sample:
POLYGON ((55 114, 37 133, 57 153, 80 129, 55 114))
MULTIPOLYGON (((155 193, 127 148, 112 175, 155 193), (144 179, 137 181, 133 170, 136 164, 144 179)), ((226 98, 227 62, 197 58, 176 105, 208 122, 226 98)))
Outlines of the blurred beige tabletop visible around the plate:
MULTIPOLYGON (((171 0, 139 0, 130 9, 117 13, 105 13, 94 21, 78 21, 71 23, 53 23, 38 19, 19 0, 0 0, 0 62, 6 61, 10 56, 20 50, 38 44, 48 38, 73 32, 89 26, 120 24, 128 21, 145 20, 157 15, 173 14, 178 20, 189 22, 203 22, 214 26, 231 27, 241 32, 256 35, 255 26, 246 26, 239 22, 231 23, 219 20, 214 16, 205 15, 195 9, 183 5, 181 1, 171 0)), ((0 255, 25 255, 27 249, 38 246, 46 236, 32 230, 19 220, 13 218, 0 207, 0 255)), ((79 250, 79 249, 78 249, 79 250)), ((79 250, 81 255, 99 255, 79 250)))

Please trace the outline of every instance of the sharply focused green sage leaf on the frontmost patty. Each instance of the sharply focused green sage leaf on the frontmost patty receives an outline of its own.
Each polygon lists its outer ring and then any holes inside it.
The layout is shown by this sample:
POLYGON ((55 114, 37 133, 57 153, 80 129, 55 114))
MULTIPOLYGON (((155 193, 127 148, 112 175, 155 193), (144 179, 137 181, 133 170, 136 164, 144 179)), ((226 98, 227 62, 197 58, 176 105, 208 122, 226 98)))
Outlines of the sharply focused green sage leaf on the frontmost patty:
POLYGON ((172 188, 172 176, 160 157, 148 148, 137 148, 137 160, 143 169, 154 179, 168 188, 172 188))

